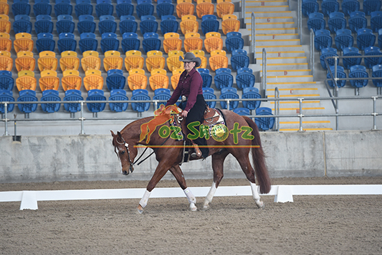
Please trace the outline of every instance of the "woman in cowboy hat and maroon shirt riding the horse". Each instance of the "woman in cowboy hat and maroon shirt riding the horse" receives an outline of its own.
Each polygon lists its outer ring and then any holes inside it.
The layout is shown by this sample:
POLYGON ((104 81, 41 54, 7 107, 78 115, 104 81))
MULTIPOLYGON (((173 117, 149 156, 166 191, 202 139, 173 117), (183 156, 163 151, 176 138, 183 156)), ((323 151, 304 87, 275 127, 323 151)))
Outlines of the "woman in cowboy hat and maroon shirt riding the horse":
MULTIPOLYGON (((172 105, 178 101, 179 96, 181 96, 181 103, 178 105, 183 111, 181 115, 186 118, 185 123, 188 125, 192 122, 202 122, 204 117, 204 111, 206 110, 206 101, 204 101, 202 85, 203 80, 200 73, 196 70, 201 64, 201 59, 195 57, 192 52, 185 53, 184 59, 179 56, 179 61, 184 64, 185 71, 181 74, 179 78, 178 85, 174 90, 171 98, 167 101, 167 105, 172 105)), ((199 130, 199 125, 194 126, 195 129, 199 130)), ((194 139, 194 143, 201 145, 201 156, 205 159, 208 156, 208 147, 205 138, 194 139)), ((192 157, 196 157, 195 153, 191 154, 192 157)))

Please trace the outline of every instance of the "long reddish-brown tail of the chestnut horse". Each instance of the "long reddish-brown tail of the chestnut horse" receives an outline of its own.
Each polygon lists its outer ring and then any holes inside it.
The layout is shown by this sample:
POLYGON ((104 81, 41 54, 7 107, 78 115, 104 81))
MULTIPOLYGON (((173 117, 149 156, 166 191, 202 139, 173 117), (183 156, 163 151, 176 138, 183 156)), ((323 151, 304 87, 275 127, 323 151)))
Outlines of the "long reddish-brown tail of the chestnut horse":
POLYGON ((270 177, 266 167, 265 154, 263 147, 261 147, 260 133, 257 124, 249 117, 243 116, 247 124, 252 128, 252 145, 259 147, 252 147, 252 159, 254 163, 254 173, 256 173, 257 182, 259 182, 260 193, 268 194, 270 191, 270 177))

